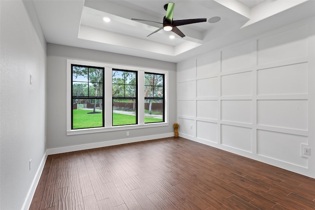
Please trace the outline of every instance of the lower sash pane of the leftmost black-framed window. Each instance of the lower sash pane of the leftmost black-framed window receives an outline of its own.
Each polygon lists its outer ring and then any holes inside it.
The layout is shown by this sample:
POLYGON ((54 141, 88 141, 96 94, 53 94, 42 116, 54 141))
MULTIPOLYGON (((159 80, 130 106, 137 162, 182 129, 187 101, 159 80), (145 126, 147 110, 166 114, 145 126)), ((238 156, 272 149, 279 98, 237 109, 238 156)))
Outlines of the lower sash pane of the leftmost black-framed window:
POLYGON ((102 99, 72 100, 72 129, 102 127, 102 99))

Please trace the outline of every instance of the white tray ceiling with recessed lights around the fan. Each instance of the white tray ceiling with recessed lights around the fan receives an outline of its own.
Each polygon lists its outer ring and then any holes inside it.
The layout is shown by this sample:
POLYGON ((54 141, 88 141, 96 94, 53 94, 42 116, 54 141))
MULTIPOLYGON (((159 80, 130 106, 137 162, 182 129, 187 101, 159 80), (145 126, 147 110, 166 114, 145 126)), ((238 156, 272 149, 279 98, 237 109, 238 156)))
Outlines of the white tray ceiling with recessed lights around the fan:
POLYGON ((172 0, 174 20, 207 18, 179 26, 184 38, 160 30, 168 0, 33 0, 46 41, 179 62, 247 37, 315 16, 315 0, 172 0), (218 23, 209 23, 219 16, 218 23), (111 21, 105 23, 103 17, 111 21), (170 39, 169 35, 175 38, 170 39))

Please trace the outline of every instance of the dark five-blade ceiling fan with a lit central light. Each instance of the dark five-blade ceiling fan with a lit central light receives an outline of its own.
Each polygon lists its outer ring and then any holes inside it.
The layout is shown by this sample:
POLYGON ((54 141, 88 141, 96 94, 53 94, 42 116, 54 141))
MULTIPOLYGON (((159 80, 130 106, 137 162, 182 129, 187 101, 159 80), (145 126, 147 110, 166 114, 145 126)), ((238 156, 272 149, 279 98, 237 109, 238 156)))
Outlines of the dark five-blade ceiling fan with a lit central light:
MULTIPOLYGON (((167 4, 164 5, 164 9, 166 10, 166 15, 163 18, 163 23, 159 23, 159 24, 163 24, 163 27, 159 28, 156 31, 153 31, 152 33, 150 33, 148 36, 158 32, 161 29, 164 29, 166 31, 173 31, 174 33, 176 33, 177 35, 184 37, 185 34, 179 30, 177 28, 177 26, 183 26, 183 25, 187 25, 187 24, 192 24, 192 23, 200 23, 200 22, 206 22, 207 18, 197 18, 197 19, 187 19, 187 20, 175 20, 173 21, 173 13, 174 13, 174 3, 173 2, 169 2, 167 4)), ((131 18, 131 20, 134 21, 147 21, 147 22, 153 22, 153 23, 158 23, 155 21, 149 21, 149 20, 142 20, 142 19, 136 19, 136 18, 131 18)))

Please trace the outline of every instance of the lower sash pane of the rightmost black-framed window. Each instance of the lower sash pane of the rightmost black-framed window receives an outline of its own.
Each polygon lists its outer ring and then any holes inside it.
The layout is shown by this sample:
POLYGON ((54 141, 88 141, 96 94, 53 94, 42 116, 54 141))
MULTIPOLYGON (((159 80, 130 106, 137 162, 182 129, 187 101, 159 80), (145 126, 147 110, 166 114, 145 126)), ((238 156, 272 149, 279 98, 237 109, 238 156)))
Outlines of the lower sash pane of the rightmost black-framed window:
POLYGON ((144 122, 163 121, 163 100, 146 99, 144 104, 144 122))

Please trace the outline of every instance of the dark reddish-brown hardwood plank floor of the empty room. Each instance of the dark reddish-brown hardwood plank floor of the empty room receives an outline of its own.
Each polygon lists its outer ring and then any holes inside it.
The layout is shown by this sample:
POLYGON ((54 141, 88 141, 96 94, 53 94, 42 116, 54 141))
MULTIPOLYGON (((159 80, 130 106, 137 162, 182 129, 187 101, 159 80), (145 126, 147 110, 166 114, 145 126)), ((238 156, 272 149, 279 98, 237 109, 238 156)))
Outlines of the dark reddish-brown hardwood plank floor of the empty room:
POLYGON ((47 157, 31 210, 314 210, 315 179, 180 137, 47 157))

